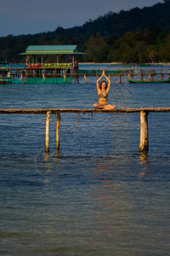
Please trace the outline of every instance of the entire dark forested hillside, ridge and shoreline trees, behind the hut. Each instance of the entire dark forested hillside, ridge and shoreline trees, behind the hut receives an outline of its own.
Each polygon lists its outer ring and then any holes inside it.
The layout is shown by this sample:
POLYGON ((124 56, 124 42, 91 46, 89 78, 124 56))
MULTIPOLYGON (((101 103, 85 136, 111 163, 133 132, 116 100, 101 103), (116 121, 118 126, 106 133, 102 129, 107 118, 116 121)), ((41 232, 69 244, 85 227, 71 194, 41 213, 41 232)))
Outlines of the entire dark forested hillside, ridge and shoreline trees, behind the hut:
POLYGON ((170 61, 170 0, 143 9, 109 12, 83 26, 0 38, 0 61, 21 62, 29 44, 77 44, 81 61, 170 61))

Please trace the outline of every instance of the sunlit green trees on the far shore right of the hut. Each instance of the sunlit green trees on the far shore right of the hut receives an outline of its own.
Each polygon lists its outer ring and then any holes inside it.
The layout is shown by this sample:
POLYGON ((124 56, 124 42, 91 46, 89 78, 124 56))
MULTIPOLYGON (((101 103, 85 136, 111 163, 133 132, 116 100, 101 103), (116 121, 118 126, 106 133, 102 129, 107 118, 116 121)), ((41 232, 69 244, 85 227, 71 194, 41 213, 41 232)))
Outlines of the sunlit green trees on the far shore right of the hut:
POLYGON ((95 62, 170 62, 170 32, 140 28, 136 32, 126 32, 122 38, 111 35, 109 38, 92 35, 87 42, 87 55, 84 61, 95 62))

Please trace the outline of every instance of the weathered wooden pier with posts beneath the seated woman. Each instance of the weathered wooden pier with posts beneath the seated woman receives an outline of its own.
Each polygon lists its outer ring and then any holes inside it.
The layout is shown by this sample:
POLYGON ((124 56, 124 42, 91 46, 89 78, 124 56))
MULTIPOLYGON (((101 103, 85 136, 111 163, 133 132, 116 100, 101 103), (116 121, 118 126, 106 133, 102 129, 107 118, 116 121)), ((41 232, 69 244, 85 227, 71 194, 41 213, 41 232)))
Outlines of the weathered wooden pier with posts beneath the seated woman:
MULTIPOLYGON (((140 141, 139 152, 147 152, 149 150, 149 128, 148 114, 170 112, 170 107, 167 108, 117 108, 114 110, 98 110, 98 109, 62 109, 62 108, 9 108, 0 109, 0 114, 46 114, 46 137, 45 145, 46 152, 49 151, 49 127, 51 114, 57 114, 56 125, 56 149, 59 150, 59 128, 61 113, 140 113, 140 141)), ((121 136, 121 135, 120 135, 121 136)))

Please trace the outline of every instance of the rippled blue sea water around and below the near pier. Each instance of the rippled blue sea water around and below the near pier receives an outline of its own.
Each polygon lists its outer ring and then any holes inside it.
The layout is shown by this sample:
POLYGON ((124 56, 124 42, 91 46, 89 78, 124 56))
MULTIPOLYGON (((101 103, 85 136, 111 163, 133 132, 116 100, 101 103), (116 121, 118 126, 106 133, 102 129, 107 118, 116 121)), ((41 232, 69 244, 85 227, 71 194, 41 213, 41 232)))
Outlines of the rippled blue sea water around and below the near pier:
MULTIPOLYGON (((116 108, 170 107, 170 84, 111 81, 116 108)), ((93 108, 95 82, 0 85, 0 108, 93 108)), ((63 113, 59 152, 52 115, 49 154, 45 122, 0 115, 0 255, 170 255, 170 113, 149 114, 148 154, 139 113, 63 113)))

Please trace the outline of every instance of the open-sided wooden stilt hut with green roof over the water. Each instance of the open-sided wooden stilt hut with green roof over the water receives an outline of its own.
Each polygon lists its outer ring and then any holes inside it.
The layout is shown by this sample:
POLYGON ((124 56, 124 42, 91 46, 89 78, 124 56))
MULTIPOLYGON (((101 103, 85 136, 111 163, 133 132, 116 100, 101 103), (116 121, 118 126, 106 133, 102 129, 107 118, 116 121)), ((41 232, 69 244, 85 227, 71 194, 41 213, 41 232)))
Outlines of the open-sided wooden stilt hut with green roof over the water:
POLYGON ((84 55, 77 45, 29 45, 25 53, 26 73, 29 84, 78 83, 79 56, 84 55))

